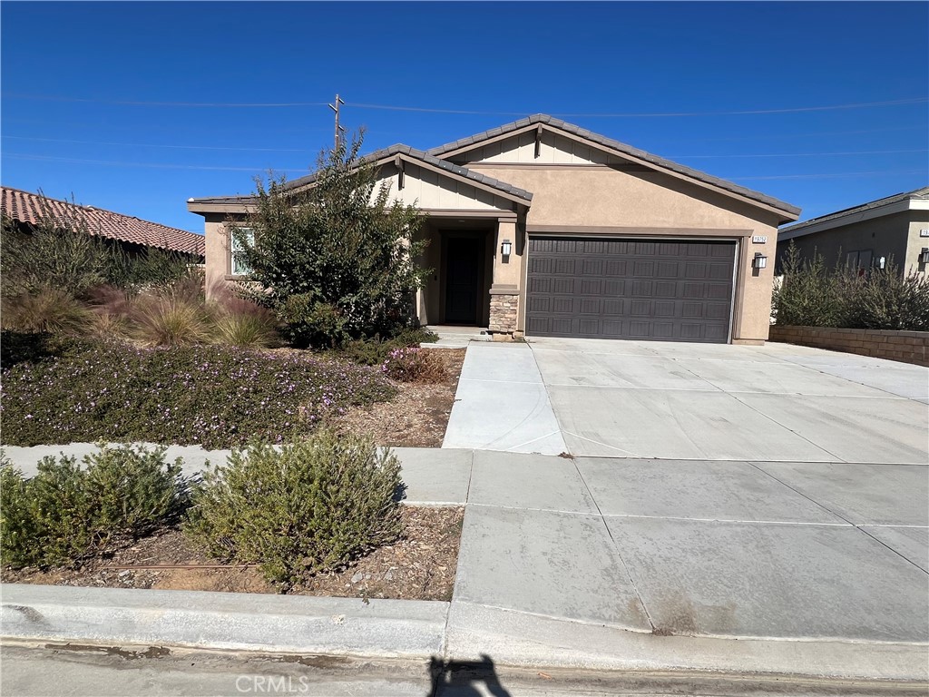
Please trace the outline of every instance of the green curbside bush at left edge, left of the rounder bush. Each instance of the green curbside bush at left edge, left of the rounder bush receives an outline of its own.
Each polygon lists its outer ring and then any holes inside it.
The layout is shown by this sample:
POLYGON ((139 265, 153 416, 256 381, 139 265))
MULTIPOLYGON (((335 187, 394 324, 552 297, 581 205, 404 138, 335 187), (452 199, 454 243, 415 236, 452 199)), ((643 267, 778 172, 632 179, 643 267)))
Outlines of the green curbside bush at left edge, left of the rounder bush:
POLYGON ((27 479, 0 465, 0 556, 4 564, 57 566, 84 559, 114 539, 131 540, 177 521, 189 482, 164 448, 102 447, 45 457, 27 479))

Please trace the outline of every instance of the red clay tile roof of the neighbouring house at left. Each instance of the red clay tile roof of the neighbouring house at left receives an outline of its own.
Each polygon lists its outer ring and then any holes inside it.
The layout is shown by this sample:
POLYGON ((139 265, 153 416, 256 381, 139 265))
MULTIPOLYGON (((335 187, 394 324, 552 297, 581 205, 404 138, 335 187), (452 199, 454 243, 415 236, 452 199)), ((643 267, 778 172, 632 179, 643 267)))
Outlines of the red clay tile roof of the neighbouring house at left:
POLYGON ((93 234, 121 242, 144 244, 159 249, 186 252, 203 256, 203 235, 187 230, 177 230, 166 225, 124 216, 122 213, 94 208, 87 205, 70 204, 67 201, 50 199, 37 193, 2 187, 3 198, 0 211, 20 223, 35 225, 43 217, 44 210, 57 220, 76 221, 84 219, 93 234), (43 200, 45 204, 43 204, 43 200), (46 206, 45 208, 43 206, 46 206))

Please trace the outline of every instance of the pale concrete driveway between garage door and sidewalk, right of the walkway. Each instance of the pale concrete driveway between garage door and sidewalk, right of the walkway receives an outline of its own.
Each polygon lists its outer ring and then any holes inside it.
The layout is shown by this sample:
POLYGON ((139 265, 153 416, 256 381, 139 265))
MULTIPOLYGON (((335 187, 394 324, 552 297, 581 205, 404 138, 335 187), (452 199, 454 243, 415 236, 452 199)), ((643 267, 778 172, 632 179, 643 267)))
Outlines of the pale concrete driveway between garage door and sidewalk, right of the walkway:
POLYGON ((570 454, 926 464, 929 369, 786 344, 538 338, 570 454))

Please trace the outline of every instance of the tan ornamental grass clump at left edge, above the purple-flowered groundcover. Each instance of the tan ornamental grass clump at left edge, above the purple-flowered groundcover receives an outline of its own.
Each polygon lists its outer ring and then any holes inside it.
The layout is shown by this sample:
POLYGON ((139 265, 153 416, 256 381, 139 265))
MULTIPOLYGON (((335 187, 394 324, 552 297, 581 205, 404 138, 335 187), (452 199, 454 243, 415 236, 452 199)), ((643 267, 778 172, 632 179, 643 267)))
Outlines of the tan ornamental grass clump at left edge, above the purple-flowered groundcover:
POLYGON ((5 297, 2 315, 4 328, 36 334, 80 334, 92 319, 83 303, 50 287, 5 297))

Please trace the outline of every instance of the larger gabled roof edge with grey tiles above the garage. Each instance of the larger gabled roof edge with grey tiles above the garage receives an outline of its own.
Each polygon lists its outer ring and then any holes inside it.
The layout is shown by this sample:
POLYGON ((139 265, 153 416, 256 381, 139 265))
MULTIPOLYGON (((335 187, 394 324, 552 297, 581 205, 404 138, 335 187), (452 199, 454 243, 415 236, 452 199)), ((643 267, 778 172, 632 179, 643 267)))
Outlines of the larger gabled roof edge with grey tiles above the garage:
POLYGON ((745 187, 741 187, 731 181, 726 181, 726 179, 713 177, 713 175, 700 172, 696 169, 691 169, 690 167, 687 167, 683 164, 677 164, 671 160, 665 160, 663 157, 659 157, 658 155, 653 155, 650 152, 638 150, 631 145, 621 143, 619 140, 613 140, 612 138, 601 136, 587 130, 586 128, 569 124, 562 121, 561 119, 556 119, 554 116, 549 116, 545 113, 536 113, 529 116, 528 118, 514 121, 512 124, 504 124, 497 126, 496 128, 491 128, 490 130, 484 131, 483 133, 478 133, 477 135, 471 136, 469 138, 455 140, 454 142, 431 149, 428 151, 428 154, 439 158, 450 157, 454 153, 470 150, 472 147, 477 148, 484 141, 490 140, 491 138, 499 138, 511 133, 527 130, 534 125, 543 125, 544 127, 548 127, 550 129, 569 133, 572 136, 582 138, 608 151, 614 151, 620 155, 635 158, 635 160, 640 162, 652 164, 657 168, 670 170, 676 174, 694 179, 700 183, 708 184, 725 191, 730 191, 731 193, 738 194, 739 196, 743 196, 752 201, 756 201, 760 204, 765 204, 772 208, 776 208, 779 211, 783 211, 784 213, 790 215, 792 219, 796 219, 796 217, 800 215, 800 208, 784 203, 783 201, 780 201, 779 199, 776 199, 772 196, 767 196, 764 193, 760 193, 759 191, 746 189, 745 187))

